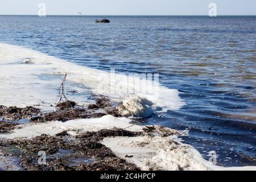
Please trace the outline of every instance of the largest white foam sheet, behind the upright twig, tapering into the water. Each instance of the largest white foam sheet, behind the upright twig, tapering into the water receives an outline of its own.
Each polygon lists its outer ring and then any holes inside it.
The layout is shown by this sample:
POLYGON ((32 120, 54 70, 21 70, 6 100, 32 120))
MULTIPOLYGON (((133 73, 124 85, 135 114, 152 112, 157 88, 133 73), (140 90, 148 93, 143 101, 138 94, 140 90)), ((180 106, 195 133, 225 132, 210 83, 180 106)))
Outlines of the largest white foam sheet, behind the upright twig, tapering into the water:
POLYGON ((131 77, 133 81, 129 82, 127 80, 130 77, 126 75, 83 67, 20 46, 0 43, 0 65, 0 105, 55 105, 61 80, 42 80, 38 76, 64 73, 67 73, 68 80, 88 86, 93 93, 118 101, 129 94, 146 98, 153 103, 150 106, 153 111, 158 111, 155 108, 161 108, 162 111, 176 110, 184 105, 177 90, 158 85, 158 82, 148 84, 147 80, 136 76, 131 77), (147 92, 130 92, 140 90, 141 87, 147 92))

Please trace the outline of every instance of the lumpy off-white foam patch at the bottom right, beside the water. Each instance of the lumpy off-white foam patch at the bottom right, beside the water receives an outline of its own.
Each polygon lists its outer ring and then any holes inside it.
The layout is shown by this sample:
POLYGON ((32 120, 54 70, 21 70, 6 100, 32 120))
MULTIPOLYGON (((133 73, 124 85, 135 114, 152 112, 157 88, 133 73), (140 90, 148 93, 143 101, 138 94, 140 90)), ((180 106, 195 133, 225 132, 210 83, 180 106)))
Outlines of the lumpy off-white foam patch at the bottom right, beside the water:
POLYGON ((127 162, 136 164, 142 170, 256 171, 255 166, 215 166, 205 160, 195 148, 176 140, 175 136, 105 138, 102 141, 102 144, 109 147, 120 158, 127 160, 127 162), (126 155, 133 157, 125 158, 126 155))

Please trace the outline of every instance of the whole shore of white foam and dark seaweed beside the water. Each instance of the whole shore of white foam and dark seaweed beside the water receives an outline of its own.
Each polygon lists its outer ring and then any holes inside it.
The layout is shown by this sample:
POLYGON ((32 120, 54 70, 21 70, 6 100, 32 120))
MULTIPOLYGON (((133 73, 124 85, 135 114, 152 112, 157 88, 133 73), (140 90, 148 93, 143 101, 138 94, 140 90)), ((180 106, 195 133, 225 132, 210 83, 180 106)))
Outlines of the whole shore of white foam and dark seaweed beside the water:
MULTIPOLYGON (((152 105, 161 108, 161 112, 179 109, 184 102, 175 89, 159 85, 163 95, 158 99, 155 93, 126 98, 119 92, 117 95, 122 100, 117 100, 104 95, 111 85, 98 88, 102 81, 97 80, 98 75, 105 74, 104 71, 80 67, 19 46, 0 44, 0 48, 3 48, 0 49, 3 90, 0 105, 6 105, 0 107, 3 119, 0 157, 19 160, 24 169, 256 170, 255 166, 214 166, 199 151, 181 141, 180 135, 187 131, 134 125, 127 118, 157 114, 152 105), (63 95, 57 93, 65 73, 70 81, 65 87, 69 100, 61 101, 63 95), (88 88, 79 88, 74 82, 88 88), (97 99, 101 94, 104 97, 97 99), (123 101, 126 105, 118 105, 123 101), (148 101, 153 104, 144 104, 148 101), (46 152, 48 164, 37 163, 40 151, 46 152), (113 166, 113 161, 119 166, 113 166)), ((137 85, 131 87, 135 89, 137 85)))

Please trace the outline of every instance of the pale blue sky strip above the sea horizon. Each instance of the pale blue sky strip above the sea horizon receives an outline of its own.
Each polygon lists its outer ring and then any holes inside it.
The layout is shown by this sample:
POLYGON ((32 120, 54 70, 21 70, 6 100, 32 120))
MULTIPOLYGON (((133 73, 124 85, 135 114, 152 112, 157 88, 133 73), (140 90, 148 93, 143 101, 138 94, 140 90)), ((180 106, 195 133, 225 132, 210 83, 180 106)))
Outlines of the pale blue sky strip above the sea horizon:
POLYGON ((209 3, 217 15, 256 15, 256 0, 0 0, 0 15, 208 15, 209 3))

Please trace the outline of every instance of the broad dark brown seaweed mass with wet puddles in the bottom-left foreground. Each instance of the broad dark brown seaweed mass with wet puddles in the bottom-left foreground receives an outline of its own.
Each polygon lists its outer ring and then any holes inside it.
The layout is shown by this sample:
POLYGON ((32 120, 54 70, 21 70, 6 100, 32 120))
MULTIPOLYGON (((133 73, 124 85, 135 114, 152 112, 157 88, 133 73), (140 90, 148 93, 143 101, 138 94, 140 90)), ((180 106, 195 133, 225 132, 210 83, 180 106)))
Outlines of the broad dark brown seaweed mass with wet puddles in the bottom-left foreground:
POLYGON ((137 171, 139 168, 135 164, 119 158, 100 141, 105 137, 136 137, 141 134, 123 129, 112 129, 88 131, 71 137, 67 131, 63 131, 54 136, 42 134, 32 139, 0 140, 0 150, 4 155, 17 156, 19 165, 29 171, 137 171), (39 164, 36 160, 39 151, 45 151, 47 154, 45 164, 39 164))

